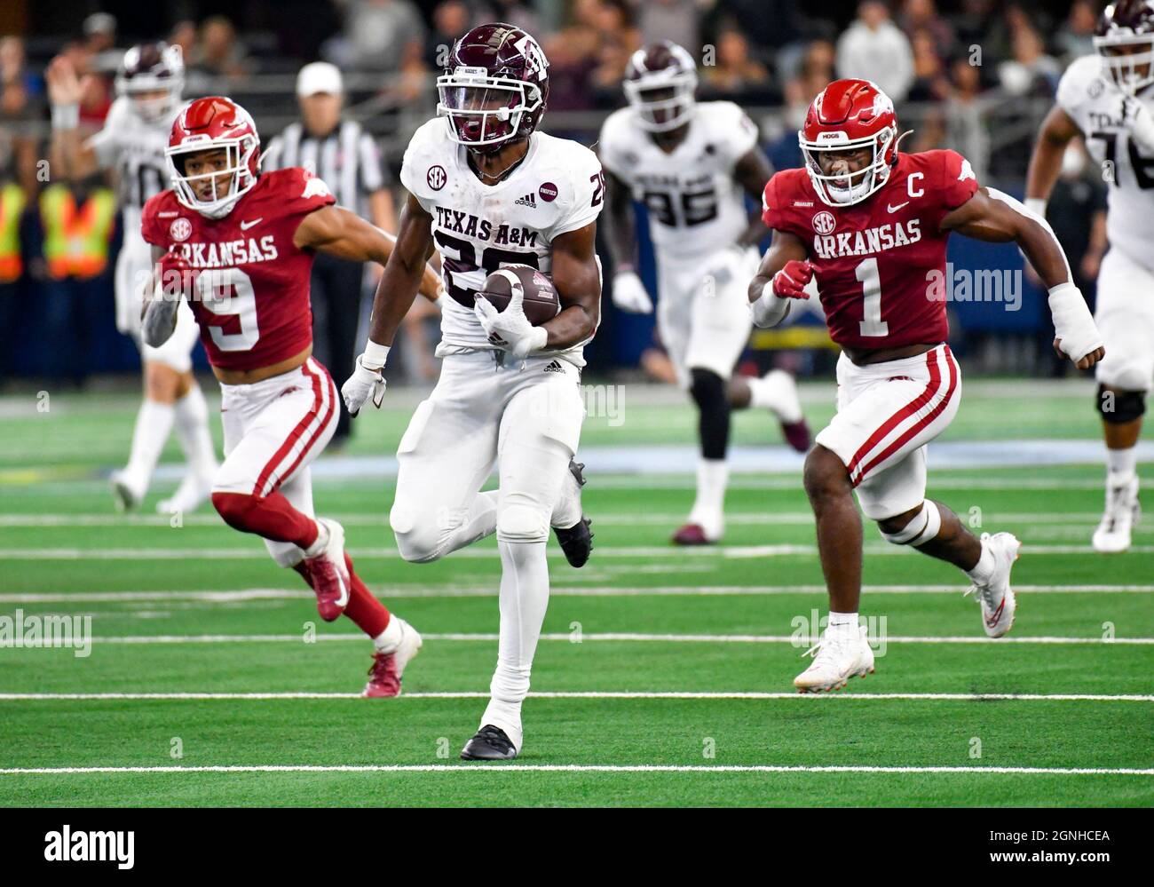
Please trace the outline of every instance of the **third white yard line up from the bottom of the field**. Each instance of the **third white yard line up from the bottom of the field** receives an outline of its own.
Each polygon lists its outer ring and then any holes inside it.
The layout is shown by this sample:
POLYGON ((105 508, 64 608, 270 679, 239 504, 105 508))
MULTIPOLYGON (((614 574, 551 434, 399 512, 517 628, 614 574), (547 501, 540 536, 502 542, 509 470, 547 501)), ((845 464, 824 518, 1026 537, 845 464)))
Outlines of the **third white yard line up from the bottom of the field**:
MULTIPOLYGON (((495 632, 441 632, 421 633, 426 641, 486 641, 495 642, 500 635, 495 632)), ((113 644, 168 644, 168 643, 304 643, 302 634, 129 634, 111 635, 105 638, 91 638, 93 643, 113 644)), ((360 633, 340 634, 317 634, 317 641, 358 641, 366 640, 360 633)), ((542 641, 568 641, 570 643, 584 643, 585 641, 624 641, 624 642, 655 642, 655 643, 792 643, 799 647, 808 647, 810 639, 799 638, 790 634, 640 634, 634 632, 601 632, 583 633, 579 636, 567 632, 550 632, 541 635, 542 641)), ((979 644, 1007 644, 1007 643, 1041 643, 1041 644, 1121 644, 1121 646, 1148 646, 1154 644, 1154 638, 1064 638, 1051 635, 1022 636, 1022 638, 984 638, 981 635, 897 635, 887 636, 884 643, 979 643, 979 644)), ((312 643, 312 641, 309 641, 312 643)), ((24 648, 48 648, 60 647, 62 643, 44 642, 21 642, 17 647, 24 648)), ((10 643, 0 644, 10 648, 10 643)))

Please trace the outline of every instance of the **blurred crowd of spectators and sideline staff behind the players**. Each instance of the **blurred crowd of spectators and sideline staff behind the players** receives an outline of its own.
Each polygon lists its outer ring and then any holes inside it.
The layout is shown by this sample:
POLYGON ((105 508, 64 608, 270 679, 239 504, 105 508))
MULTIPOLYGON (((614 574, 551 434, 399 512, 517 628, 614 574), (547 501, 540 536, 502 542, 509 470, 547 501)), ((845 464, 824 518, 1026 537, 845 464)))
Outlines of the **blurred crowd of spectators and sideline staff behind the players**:
POLYGON ((233 18, 186 18, 163 35, 95 13, 73 36, 0 38, 0 379, 32 374, 78 383, 93 370, 130 368, 135 359, 111 319, 117 184, 52 174, 44 70, 57 54, 84 75, 81 126, 96 132, 125 49, 162 36, 183 51, 186 97, 258 97, 249 106, 262 131, 268 127, 265 146, 284 122, 262 109, 291 106, 297 70, 328 60, 350 84, 376 84, 350 90, 361 102, 351 113, 379 139, 390 134, 381 120, 398 131, 402 137, 382 140, 383 163, 396 167, 409 124, 394 112, 420 106, 424 117, 432 113, 430 76, 447 47, 480 21, 509 21, 540 37, 550 62, 546 125, 589 142, 599 118, 623 103, 629 55, 668 38, 698 59, 702 98, 750 110, 779 167, 801 163, 795 133, 814 95, 853 75, 876 81, 900 103, 902 120, 915 129, 905 148, 949 144, 969 158, 979 180, 1020 188, 1037 121, 1064 67, 1093 52, 1099 12, 1091 0, 863 0, 829 3, 820 14, 793 0, 288 0, 268 22, 267 9, 256 12, 268 6, 245 0, 233 18), (295 13, 306 8, 309 27, 302 28, 295 13), (1036 115, 1022 113, 1035 106, 1036 115), (36 341, 53 346, 36 348, 36 341))

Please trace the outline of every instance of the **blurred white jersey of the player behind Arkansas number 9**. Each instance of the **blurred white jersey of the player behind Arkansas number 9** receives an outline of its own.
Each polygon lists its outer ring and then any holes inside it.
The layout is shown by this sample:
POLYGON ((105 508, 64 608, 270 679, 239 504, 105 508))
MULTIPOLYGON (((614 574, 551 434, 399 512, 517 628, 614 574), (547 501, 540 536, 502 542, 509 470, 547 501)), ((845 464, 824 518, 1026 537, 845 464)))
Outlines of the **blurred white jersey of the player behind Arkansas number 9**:
POLYGON ((168 147, 172 121, 178 111, 174 109, 163 120, 150 122, 136 113, 132 98, 120 96, 108 109, 104 127, 88 140, 100 167, 114 167, 117 171, 126 245, 140 246, 144 243, 141 237, 141 209, 149 197, 170 185, 164 150, 168 147))

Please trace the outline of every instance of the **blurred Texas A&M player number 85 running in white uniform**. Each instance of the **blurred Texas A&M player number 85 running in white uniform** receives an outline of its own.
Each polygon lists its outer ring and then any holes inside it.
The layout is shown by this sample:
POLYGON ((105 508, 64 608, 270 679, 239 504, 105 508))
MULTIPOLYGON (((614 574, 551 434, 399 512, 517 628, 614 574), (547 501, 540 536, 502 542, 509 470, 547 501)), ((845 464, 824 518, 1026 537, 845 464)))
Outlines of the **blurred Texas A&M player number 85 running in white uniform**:
POLYGON ((745 284, 766 233, 744 197, 759 201, 773 171, 757 147, 757 127, 737 105, 696 102, 696 66, 677 44, 661 40, 634 53, 624 89, 629 106, 609 115, 598 143, 608 173, 613 304, 653 311, 636 267, 638 200, 657 252, 658 334, 698 410, 697 498, 673 542, 703 545, 725 531, 730 410, 769 409, 794 449, 809 448, 792 375, 733 373, 752 326, 745 284))

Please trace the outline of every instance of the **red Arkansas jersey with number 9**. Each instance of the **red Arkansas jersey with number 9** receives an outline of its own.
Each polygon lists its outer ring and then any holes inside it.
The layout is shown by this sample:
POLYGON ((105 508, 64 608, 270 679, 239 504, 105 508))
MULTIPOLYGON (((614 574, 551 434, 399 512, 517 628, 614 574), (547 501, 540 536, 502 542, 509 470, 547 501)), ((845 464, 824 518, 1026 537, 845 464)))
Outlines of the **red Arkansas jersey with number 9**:
POLYGON ((335 203, 323 181, 290 167, 261 173, 224 218, 207 218, 162 192, 144 204, 144 239, 175 245, 201 271, 192 300, 209 363, 257 370, 308 348, 313 252, 298 249, 301 219, 335 203))

